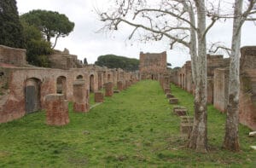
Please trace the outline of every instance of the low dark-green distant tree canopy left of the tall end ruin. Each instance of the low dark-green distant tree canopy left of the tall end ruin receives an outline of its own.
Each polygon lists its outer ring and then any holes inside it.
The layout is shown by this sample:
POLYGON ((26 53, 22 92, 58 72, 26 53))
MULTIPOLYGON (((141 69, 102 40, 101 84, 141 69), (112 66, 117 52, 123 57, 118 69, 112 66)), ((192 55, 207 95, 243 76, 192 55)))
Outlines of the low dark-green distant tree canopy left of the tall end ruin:
POLYGON ((101 67, 121 68, 126 71, 137 71, 139 67, 137 59, 118 55, 101 55, 95 64, 101 67))

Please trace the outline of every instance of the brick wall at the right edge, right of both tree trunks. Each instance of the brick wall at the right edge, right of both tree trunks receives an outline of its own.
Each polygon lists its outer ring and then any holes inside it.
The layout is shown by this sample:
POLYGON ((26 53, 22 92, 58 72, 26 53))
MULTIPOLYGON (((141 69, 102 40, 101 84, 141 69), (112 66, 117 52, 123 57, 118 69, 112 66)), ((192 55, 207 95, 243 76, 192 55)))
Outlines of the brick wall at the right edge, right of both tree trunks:
POLYGON ((239 120, 256 130, 256 46, 241 48, 239 120))

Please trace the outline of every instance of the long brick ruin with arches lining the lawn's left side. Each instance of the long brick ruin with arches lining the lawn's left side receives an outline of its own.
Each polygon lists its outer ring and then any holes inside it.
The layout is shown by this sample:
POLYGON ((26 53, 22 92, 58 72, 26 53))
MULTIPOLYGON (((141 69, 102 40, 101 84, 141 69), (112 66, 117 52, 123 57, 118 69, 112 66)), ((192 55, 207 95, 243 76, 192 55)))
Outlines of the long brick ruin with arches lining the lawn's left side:
MULTIPOLYGON (((51 68, 32 67, 26 63, 25 49, 0 45, 0 123, 46 109, 49 125, 64 125, 68 123, 67 116, 61 117, 62 110, 55 113, 50 110, 52 107, 48 105, 57 101, 46 99, 48 95, 61 94, 64 100, 74 102, 75 111, 88 112, 90 91, 101 90, 108 82, 116 86, 119 81, 124 84, 132 78, 139 80, 137 72, 84 66, 76 55, 69 55, 67 49, 55 51, 49 59, 51 68), (59 120, 49 116, 58 116, 59 120)), ((63 105, 62 96, 58 103, 63 105)))

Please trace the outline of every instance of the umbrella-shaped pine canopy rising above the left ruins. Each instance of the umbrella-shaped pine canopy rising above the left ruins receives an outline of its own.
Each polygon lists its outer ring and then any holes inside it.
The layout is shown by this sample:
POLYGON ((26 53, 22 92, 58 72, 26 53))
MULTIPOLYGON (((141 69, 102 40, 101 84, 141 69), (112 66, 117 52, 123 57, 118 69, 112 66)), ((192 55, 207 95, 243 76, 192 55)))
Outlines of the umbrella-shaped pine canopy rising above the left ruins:
POLYGON ((37 27, 48 42, 50 38, 55 38, 52 48, 55 48, 58 38, 68 36, 74 27, 74 23, 68 20, 65 14, 47 10, 32 10, 22 14, 20 19, 30 26, 37 27))

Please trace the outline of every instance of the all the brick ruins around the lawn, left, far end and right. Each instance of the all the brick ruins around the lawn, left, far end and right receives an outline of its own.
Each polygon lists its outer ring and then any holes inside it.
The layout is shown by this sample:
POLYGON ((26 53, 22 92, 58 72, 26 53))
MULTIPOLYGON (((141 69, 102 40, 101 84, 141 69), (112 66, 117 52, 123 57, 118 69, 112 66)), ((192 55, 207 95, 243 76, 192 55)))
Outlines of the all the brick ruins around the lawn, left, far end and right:
MULTIPOLYGON (((84 66, 67 50, 54 55, 49 56, 51 68, 32 67, 26 63, 26 50, 0 46, 0 123, 46 109, 47 124, 66 125, 67 101, 73 101, 74 111, 89 112, 90 92, 95 92, 97 101, 101 102, 103 95, 98 91, 104 87, 106 96, 113 96, 114 87, 125 90, 140 79, 159 80, 172 104, 178 100, 171 94, 171 81, 190 93, 195 90, 191 62, 187 61, 170 75, 166 69, 166 52, 141 53, 140 72, 84 66), (53 104, 60 108, 54 108, 53 104)), ((223 55, 207 55, 207 102, 221 112, 225 112, 228 103, 229 63, 223 55)), ((256 130, 256 47, 241 48, 240 71, 240 122, 256 130)), ((177 110, 177 113, 184 112, 177 110)))

